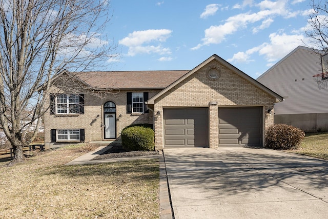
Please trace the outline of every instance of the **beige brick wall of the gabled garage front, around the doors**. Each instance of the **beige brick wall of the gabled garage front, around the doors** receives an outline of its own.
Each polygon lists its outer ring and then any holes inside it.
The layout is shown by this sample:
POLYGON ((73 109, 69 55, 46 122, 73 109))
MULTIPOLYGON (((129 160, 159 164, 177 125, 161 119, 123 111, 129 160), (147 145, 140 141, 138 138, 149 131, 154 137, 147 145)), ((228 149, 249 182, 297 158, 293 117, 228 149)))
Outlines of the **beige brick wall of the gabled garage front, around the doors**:
POLYGON ((232 72, 216 61, 199 69, 190 77, 173 87, 155 100, 154 111, 161 115, 155 119, 155 148, 163 147, 163 108, 165 107, 209 107, 209 147, 218 147, 218 107, 261 106, 263 107, 264 128, 273 124, 274 97, 254 86, 246 79, 232 72), (221 76, 216 81, 208 79, 208 66, 216 66, 221 76), (217 102, 217 106, 209 106, 217 102))

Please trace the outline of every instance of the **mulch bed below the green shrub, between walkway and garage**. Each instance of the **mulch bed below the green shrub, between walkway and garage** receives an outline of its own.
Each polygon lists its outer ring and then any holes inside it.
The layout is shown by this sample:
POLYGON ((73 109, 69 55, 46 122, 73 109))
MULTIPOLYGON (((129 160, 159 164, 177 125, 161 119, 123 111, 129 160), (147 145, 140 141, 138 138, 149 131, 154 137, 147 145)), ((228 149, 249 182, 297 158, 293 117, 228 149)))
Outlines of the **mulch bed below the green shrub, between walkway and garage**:
POLYGON ((122 147, 121 144, 114 144, 109 150, 103 154, 96 156, 93 160, 105 160, 110 158, 132 157, 132 156, 148 156, 158 155, 159 151, 131 151, 122 147))

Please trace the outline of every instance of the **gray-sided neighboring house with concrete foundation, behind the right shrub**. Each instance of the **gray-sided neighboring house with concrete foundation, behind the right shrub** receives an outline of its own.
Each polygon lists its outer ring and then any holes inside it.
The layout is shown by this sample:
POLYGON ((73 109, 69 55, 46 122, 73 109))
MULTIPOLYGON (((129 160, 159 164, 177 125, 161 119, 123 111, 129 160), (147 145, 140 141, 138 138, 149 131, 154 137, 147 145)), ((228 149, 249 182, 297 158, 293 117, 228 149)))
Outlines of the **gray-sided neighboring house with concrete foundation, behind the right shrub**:
POLYGON ((275 104, 274 123, 305 132, 328 130, 328 87, 319 89, 313 75, 322 73, 320 55, 298 46, 257 78, 278 92, 284 101, 275 104))

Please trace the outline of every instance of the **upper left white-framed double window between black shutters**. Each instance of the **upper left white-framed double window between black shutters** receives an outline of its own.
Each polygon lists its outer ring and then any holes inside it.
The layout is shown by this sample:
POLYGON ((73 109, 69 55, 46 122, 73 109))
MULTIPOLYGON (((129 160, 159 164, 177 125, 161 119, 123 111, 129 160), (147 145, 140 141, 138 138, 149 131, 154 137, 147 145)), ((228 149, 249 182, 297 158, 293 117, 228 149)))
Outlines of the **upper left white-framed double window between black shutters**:
POLYGON ((79 95, 78 94, 58 94, 56 95, 57 114, 78 114, 79 95))

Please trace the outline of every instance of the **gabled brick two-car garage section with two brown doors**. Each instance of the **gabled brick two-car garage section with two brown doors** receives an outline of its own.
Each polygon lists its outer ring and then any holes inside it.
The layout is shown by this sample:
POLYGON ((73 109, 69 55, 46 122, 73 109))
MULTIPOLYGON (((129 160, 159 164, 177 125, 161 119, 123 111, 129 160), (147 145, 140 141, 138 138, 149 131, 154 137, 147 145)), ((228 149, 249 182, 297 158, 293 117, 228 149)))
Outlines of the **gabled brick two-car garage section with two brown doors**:
POLYGON ((257 146, 283 97, 213 55, 147 101, 155 148, 257 146))

